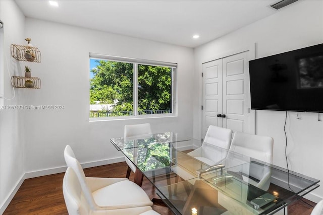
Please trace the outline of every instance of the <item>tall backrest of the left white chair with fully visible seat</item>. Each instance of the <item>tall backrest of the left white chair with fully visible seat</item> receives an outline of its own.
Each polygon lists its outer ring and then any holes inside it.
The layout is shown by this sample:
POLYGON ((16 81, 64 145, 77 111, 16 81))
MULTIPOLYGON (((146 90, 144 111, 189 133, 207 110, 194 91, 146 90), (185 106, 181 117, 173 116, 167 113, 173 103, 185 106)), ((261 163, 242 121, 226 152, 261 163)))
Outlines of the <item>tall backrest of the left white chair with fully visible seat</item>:
POLYGON ((78 162, 78 160, 75 158, 74 152, 69 145, 65 147, 64 158, 65 158, 66 165, 68 167, 71 167, 74 170, 75 174, 77 175, 77 178, 81 185, 84 197, 87 200, 87 203, 89 204, 92 210, 95 210, 97 208, 97 205, 93 199, 90 188, 87 186, 84 171, 80 163, 78 162))

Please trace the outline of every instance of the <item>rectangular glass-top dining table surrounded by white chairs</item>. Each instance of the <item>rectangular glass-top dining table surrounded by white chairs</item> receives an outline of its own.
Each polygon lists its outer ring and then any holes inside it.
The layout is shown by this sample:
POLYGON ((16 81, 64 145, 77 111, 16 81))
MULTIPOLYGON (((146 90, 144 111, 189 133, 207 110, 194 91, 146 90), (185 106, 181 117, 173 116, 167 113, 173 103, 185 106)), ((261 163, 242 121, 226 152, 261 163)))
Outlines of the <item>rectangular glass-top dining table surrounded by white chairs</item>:
POLYGON ((274 214, 319 180, 173 132, 111 138, 175 214, 274 214))

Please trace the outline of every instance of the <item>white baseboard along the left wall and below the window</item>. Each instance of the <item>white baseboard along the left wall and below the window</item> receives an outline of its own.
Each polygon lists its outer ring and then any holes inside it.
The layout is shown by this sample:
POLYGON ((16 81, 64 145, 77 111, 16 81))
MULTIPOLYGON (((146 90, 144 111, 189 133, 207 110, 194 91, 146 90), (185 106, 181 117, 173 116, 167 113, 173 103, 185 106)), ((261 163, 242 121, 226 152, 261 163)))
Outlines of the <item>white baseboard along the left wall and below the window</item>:
MULTIPOLYGON (((106 164, 114 164, 114 163, 119 163, 125 161, 125 157, 119 157, 119 158, 113 158, 113 159, 107 159, 107 160, 100 160, 100 161, 93 161, 93 162, 87 162, 81 164, 82 168, 90 168, 90 167, 97 167, 97 166, 102 166, 106 164)), ((35 178, 39 176, 45 176, 45 175, 51 175, 51 174, 57 174, 57 173, 62 173, 66 171, 66 166, 63 167, 56 167, 56 168, 51 168, 51 169, 45 169, 45 170, 37 170, 33 172, 27 172, 23 174, 15 186, 15 188, 12 190, 11 194, 7 197, 7 199, 4 201, 4 203, 0 207, 0 214, 3 214, 8 207, 9 203, 11 200, 14 198, 16 195, 18 189, 22 185, 25 179, 28 178, 35 178)))

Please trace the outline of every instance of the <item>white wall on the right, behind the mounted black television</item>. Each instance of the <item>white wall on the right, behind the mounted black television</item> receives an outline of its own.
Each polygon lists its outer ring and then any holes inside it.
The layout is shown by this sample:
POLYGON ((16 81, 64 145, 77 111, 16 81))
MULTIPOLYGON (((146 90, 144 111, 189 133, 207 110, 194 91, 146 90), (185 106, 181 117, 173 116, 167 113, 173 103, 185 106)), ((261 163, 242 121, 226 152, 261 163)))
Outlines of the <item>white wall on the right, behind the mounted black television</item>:
MULTIPOLYGON (((254 43, 257 44, 256 58, 323 43, 323 1, 298 1, 194 49, 194 137, 201 138, 202 63, 254 43)), ((318 121, 317 113, 300 113, 300 116, 298 120, 295 112, 289 112, 287 117, 289 167, 323 181, 323 121, 318 121)), ((274 138, 274 164, 286 168, 284 122, 283 111, 256 111, 256 134, 274 138)), ((313 194, 307 197, 315 201, 323 198, 323 187, 313 194)))

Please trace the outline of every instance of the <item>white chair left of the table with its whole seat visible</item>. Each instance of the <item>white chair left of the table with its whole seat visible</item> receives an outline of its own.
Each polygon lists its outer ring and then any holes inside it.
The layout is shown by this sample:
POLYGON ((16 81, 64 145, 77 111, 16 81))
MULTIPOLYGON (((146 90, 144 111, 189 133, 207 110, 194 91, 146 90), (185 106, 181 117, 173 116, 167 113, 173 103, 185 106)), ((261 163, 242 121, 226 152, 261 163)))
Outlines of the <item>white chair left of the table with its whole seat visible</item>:
POLYGON ((153 205, 145 191, 126 178, 85 177, 84 171, 69 145, 65 148, 64 157, 67 166, 71 167, 77 175, 82 188, 82 196, 91 210, 153 205))

